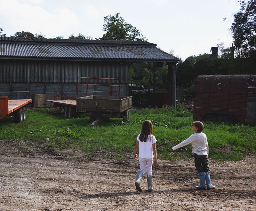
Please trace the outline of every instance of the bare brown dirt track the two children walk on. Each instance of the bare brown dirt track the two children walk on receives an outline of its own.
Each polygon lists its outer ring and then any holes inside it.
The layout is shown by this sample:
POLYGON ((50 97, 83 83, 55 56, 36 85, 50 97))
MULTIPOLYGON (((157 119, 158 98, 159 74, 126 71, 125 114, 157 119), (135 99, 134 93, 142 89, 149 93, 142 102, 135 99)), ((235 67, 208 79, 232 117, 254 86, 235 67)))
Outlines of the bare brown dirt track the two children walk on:
POLYGON ((152 186, 142 193, 134 182, 139 161, 93 159, 84 152, 60 152, 25 143, 0 144, 0 210, 255 210, 256 158, 210 160, 215 190, 196 190, 193 160, 159 160, 152 186))

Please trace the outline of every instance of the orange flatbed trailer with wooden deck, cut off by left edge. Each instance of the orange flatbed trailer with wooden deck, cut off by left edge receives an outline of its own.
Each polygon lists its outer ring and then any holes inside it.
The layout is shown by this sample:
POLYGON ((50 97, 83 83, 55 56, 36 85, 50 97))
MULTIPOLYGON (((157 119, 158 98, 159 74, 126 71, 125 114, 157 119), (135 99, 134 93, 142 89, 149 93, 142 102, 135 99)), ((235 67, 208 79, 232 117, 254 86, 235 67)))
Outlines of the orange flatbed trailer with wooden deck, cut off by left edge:
POLYGON ((5 116, 14 116, 14 122, 26 120, 25 105, 32 103, 32 99, 9 100, 9 97, 0 97, 0 119, 5 116))

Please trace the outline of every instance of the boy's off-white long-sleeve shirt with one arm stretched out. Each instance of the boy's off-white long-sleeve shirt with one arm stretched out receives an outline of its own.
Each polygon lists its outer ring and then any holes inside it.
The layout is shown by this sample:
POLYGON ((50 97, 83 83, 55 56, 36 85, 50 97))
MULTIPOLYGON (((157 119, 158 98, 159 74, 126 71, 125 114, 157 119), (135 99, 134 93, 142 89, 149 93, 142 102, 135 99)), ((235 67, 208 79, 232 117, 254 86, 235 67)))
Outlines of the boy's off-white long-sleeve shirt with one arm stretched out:
POLYGON ((180 147, 186 146, 188 144, 192 144, 192 153, 196 153, 198 155, 208 155, 209 147, 207 142, 207 137, 205 133, 194 133, 186 140, 182 141, 180 144, 172 147, 173 150, 176 150, 180 147))

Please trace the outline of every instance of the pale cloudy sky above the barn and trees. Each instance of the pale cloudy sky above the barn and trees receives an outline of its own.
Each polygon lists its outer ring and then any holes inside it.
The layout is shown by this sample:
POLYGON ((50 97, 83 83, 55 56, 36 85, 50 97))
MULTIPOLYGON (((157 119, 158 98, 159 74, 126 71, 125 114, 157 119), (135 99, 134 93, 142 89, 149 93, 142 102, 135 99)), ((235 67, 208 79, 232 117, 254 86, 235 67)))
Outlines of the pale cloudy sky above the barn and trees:
POLYGON ((104 34, 104 17, 120 13, 149 43, 181 58, 233 43, 230 27, 240 9, 237 0, 0 0, 2 34, 42 34, 67 39, 79 33, 104 34), (224 21, 223 19, 226 18, 224 21))

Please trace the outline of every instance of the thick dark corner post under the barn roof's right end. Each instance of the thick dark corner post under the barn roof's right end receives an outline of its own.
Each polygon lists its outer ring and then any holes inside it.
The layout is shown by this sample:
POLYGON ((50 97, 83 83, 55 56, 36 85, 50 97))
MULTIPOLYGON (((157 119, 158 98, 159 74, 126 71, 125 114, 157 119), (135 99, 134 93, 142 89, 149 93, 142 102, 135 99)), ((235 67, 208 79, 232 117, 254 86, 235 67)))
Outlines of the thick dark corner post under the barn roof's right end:
POLYGON ((175 106, 175 67, 176 63, 168 62, 168 82, 167 82, 167 105, 175 106))

